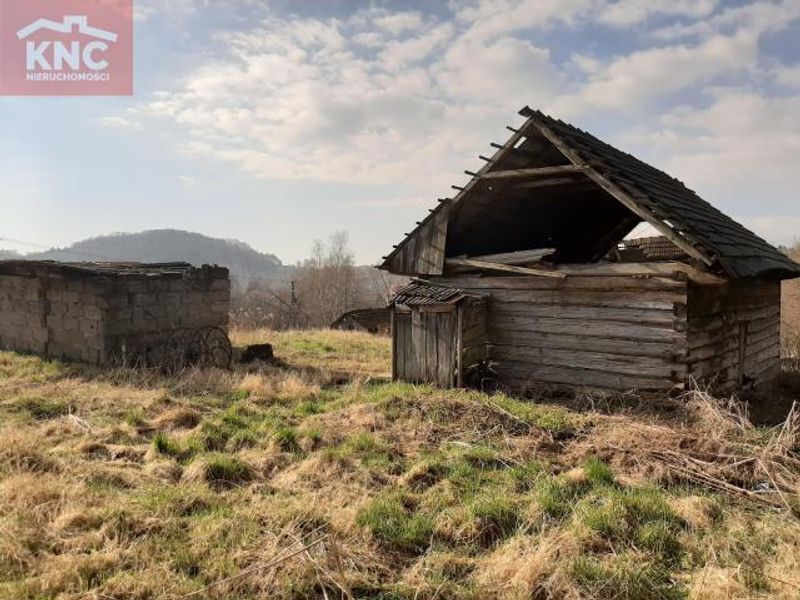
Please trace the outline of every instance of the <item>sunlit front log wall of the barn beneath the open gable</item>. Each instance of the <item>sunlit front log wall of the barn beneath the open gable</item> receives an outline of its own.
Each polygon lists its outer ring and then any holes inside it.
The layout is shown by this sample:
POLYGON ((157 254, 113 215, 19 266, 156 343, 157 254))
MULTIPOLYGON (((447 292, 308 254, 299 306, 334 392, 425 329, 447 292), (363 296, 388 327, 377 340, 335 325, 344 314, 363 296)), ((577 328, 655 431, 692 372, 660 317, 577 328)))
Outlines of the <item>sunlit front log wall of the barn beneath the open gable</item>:
POLYGON ((589 272, 435 283, 486 298, 488 357, 511 387, 670 389, 686 380, 685 277, 589 272))

